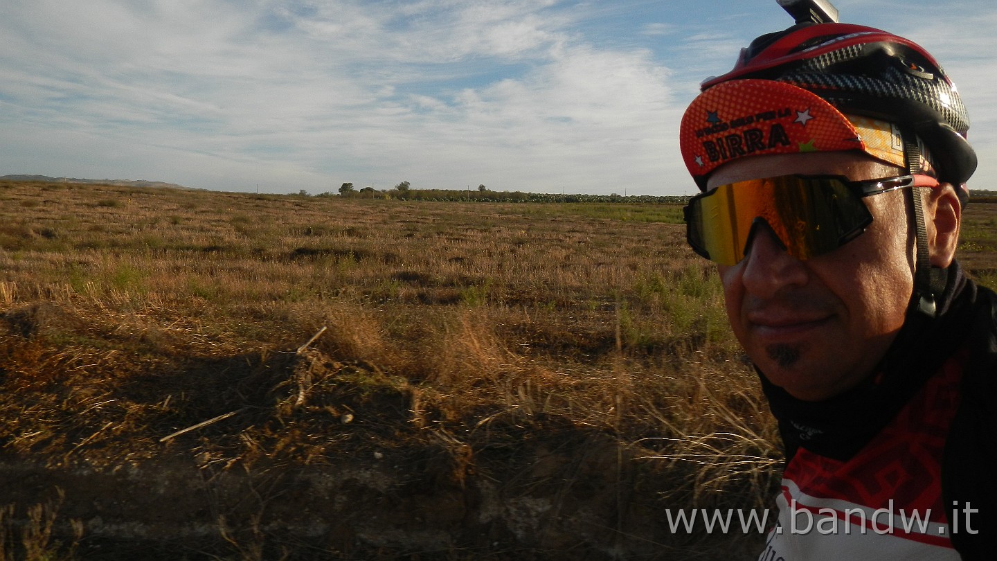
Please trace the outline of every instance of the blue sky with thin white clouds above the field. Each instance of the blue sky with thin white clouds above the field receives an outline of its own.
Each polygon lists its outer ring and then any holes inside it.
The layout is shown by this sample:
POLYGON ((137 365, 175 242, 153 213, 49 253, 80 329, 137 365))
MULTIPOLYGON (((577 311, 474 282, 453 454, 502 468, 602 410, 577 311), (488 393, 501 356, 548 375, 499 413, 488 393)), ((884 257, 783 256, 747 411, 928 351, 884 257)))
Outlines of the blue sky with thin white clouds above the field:
MULTIPOLYGON (((931 52, 997 173, 997 2, 836 0, 931 52)), ((776 0, 2 0, 0 175, 692 194, 679 121, 776 0)))

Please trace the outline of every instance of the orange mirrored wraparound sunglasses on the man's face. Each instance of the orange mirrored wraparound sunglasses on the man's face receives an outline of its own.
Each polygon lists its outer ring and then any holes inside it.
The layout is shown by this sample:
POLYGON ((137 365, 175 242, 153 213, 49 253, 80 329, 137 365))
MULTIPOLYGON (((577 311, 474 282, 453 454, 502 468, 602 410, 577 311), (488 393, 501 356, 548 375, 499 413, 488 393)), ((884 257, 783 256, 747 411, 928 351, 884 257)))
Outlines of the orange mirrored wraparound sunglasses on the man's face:
POLYGON ((923 175, 857 182, 836 176, 780 176, 722 185, 689 200, 684 209, 686 240, 714 263, 737 265, 756 227, 764 224, 788 254, 808 260, 865 232, 872 215, 863 198, 938 185, 923 175))

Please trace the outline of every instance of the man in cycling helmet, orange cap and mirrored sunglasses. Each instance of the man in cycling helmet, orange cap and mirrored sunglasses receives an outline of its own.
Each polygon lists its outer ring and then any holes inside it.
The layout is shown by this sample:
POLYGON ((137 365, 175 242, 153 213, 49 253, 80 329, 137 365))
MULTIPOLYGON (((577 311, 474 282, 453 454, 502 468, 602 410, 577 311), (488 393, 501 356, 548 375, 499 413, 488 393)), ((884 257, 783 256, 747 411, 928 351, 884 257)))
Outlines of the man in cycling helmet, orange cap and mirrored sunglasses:
POLYGON ((786 448, 761 559, 997 555, 997 295, 955 261, 968 127, 924 49, 833 21, 759 37, 682 119, 688 241, 786 448))

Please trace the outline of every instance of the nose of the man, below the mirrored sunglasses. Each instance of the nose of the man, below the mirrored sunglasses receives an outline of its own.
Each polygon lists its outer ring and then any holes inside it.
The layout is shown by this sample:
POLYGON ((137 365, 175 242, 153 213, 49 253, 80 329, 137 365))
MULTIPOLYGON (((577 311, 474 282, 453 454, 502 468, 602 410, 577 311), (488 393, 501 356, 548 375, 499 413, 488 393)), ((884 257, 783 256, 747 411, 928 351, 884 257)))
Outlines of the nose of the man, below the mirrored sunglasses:
POLYGON ((770 297, 788 285, 808 281, 803 262, 786 252, 768 223, 758 221, 745 248, 742 282, 753 295, 770 297))

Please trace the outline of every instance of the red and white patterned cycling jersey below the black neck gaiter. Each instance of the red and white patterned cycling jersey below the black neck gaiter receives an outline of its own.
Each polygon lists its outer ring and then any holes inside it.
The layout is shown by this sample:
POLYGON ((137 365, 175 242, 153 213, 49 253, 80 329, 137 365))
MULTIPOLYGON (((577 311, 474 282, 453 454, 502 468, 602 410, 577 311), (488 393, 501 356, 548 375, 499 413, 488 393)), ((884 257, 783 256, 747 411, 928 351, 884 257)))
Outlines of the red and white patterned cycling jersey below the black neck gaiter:
POLYGON ((959 521, 948 520, 941 461, 958 406, 960 358, 947 361, 850 459, 806 444, 797 451, 760 561, 959 559, 949 538, 959 521))

